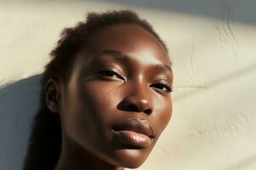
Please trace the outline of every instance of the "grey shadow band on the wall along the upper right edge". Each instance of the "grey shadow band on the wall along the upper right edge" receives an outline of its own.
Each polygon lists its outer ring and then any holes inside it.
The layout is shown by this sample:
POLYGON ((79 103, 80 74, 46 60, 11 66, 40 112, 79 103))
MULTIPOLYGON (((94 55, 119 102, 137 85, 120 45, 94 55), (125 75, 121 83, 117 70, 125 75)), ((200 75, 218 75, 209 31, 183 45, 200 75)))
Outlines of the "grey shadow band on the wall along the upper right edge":
MULTIPOLYGON (((106 1, 103 1, 106 2, 106 1)), ((230 22, 238 21, 247 24, 256 24, 256 1, 254 0, 108 0, 110 3, 125 4, 140 8, 155 8, 166 12, 177 12, 182 14, 195 14, 204 17, 216 18, 230 22)))

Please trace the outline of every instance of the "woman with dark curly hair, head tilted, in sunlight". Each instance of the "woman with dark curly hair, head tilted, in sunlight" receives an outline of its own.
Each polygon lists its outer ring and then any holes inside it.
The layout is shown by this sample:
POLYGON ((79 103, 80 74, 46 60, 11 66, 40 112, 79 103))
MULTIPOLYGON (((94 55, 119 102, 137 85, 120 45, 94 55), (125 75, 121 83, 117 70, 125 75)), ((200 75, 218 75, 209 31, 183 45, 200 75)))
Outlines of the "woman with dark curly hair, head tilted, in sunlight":
POLYGON ((25 170, 136 168, 172 116, 165 43, 130 10, 65 29, 42 78, 25 170))

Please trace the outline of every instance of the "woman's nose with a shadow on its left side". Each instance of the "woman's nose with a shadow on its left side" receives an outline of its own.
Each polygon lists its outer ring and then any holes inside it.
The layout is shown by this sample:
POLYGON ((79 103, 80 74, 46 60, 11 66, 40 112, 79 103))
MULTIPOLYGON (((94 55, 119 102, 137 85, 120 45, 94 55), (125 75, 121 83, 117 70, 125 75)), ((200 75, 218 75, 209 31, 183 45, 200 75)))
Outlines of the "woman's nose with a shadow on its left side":
POLYGON ((122 111, 143 112, 151 114, 153 111, 152 104, 149 99, 149 94, 146 87, 131 86, 130 93, 128 93, 118 105, 118 109, 122 111))

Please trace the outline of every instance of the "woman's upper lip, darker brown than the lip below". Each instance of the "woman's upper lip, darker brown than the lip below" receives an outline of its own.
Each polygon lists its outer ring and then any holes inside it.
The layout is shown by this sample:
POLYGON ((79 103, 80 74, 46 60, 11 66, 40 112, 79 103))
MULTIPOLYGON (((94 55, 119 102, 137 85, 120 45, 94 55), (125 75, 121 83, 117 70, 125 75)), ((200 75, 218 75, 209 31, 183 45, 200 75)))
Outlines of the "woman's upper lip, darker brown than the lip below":
POLYGON ((119 122, 113 126, 113 130, 130 130, 136 133, 147 135, 149 138, 154 138, 154 131, 150 123, 146 120, 140 120, 138 118, 130 118, 123 122, 119 122))

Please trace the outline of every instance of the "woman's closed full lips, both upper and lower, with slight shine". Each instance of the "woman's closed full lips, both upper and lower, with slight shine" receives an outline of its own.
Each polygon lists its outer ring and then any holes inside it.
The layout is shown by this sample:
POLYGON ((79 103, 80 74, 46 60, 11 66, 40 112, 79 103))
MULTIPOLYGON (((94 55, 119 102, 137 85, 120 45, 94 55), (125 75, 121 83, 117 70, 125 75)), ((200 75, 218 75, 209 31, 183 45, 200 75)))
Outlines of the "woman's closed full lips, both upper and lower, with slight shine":
POLYGON ((119 139, 119 142, 139 148, 147 147, 154 139, 154 132, 150 123, 137 118, 127 119, 116 124, 113 127, 113 134, 119 139))

